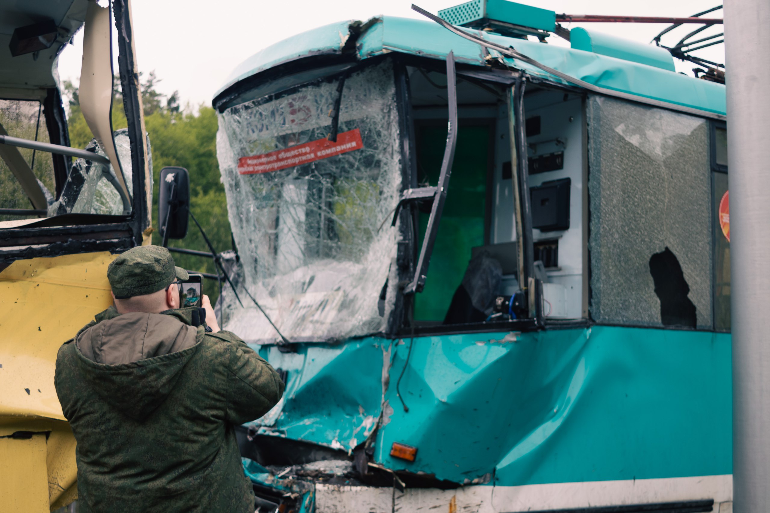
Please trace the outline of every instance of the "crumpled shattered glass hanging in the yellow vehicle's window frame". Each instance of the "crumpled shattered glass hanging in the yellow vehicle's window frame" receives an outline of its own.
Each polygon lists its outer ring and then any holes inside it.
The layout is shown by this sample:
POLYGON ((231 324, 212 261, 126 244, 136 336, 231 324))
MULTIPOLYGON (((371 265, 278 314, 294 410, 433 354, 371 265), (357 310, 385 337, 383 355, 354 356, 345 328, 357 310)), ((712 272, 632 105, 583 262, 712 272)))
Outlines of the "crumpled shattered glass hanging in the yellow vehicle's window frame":
MULTIPOLYGON (((127 184, 132 184, 131 142, 128 129, 115 131, 114 139, 123 177, 127 184)), ((107 156, 96 139, 91 139, 85 149, 101 156, 107 156)), ((64 189, 62 189, 62 196, 49 206, 49 216, 65 213, 122 215, 123 202, 120 193, 107 179, 107 173, 109 173, 109 169, 104 164, 76 159, 75 163, 72 164, 69 176, 67 176, 64 189)), ((117 173, 120 171, 118 170, 117 173)))

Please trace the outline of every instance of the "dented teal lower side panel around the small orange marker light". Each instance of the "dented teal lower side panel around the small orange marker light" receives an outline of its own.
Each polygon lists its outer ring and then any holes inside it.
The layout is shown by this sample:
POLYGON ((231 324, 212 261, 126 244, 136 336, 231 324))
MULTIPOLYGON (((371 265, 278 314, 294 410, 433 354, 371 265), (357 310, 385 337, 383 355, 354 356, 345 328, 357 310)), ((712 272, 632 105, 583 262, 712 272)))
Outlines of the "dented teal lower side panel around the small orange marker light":
POLYGON ((494 471, 497 485, 731 473, 727 334, 593 327, 414 344, 409 412, 386 394, 375 456, 388 468, 482 483, 494 471), (394 441, 417 460, 391 458, 394 441))

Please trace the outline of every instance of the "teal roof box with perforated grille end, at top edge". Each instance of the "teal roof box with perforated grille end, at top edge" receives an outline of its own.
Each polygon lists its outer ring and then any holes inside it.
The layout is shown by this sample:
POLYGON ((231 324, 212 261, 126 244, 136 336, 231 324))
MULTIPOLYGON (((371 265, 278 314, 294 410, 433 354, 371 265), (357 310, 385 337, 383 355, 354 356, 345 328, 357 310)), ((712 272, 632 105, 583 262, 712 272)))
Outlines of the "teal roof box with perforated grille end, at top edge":
POLYGON ((556 28, 556 12, 508 0, 471 0, 441 10, 438 16, 452 25, 490 28, 517 38, 537 35, 542 39, 556 28))

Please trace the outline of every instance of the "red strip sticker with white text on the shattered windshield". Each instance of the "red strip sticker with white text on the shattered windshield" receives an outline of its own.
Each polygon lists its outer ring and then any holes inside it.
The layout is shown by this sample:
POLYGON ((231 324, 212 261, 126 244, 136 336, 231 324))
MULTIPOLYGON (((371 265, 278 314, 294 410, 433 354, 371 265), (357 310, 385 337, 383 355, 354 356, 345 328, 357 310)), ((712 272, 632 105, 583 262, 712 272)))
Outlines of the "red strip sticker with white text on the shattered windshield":
POLYGON ((359 129, 353 129, 338 134, 336 142, 331 142, 329 139, 318 139, 262 155, 242 157, 238 159, 238 173, 242 175, 269 173, 287 167, 301 166, 316 160, 328 159, 330 156, 361 148, 363 148, 361 132, 359 129))

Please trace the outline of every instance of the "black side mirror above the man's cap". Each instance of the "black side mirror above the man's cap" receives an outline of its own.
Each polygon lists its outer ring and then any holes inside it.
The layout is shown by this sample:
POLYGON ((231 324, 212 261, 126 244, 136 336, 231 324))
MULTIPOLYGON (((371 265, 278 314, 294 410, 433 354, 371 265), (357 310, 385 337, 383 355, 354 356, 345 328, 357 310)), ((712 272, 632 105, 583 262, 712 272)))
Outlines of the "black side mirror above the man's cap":
POLYGON ((169 239, 183 239, 187 235, 189 217, 189 173, 183 167, 164 167, 160 170, 158 191, 158 224, 162 246, 169 239))

